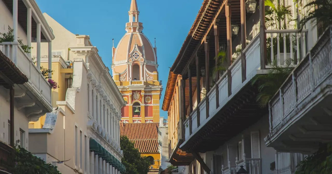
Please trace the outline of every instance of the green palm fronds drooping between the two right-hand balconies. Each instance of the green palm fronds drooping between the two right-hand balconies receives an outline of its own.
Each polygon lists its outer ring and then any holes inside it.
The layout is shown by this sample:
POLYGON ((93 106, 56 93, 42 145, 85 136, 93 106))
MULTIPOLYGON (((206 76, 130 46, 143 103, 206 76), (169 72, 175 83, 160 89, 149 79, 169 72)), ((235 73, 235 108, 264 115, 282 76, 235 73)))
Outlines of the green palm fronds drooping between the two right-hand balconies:
POLYGON ((266 107, 293 70, 291 59, 286 59, 284 64, 283 67, 279 67, 277 60, 274 60, 271 64, 272 68, 268 70, 268 74, 258 75, 253 78, 251 85, 258 84, 259 93, 256 99, 260 107, 266 107))

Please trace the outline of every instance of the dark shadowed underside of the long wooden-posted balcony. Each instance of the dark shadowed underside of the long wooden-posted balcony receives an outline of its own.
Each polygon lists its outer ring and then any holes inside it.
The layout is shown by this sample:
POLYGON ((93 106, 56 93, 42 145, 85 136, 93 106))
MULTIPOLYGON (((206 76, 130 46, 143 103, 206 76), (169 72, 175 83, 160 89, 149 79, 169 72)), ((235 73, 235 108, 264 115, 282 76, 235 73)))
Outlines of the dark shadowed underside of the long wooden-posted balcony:
POLYGON ((249 82, 215 115, 210 115, 212 118, 181 149, 201 153, 215 150, 256 123, 268 114, 268 108, 259 107, 257 94, 257 86, 252 86, 249 82))

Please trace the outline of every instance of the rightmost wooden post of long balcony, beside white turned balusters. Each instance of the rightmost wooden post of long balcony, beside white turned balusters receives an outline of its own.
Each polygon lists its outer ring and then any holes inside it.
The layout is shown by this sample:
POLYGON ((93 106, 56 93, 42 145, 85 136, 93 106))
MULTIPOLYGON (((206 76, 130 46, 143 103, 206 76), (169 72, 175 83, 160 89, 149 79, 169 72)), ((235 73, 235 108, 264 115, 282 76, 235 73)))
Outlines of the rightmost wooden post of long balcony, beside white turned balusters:
POLYGON ((266 34, 265 34, 265 5, 264 0, 259 0, 259 12, 260 12, 260 28, 259 28, 259 40, 261 49, 261 70, 265 69, 266 61, 266 34))

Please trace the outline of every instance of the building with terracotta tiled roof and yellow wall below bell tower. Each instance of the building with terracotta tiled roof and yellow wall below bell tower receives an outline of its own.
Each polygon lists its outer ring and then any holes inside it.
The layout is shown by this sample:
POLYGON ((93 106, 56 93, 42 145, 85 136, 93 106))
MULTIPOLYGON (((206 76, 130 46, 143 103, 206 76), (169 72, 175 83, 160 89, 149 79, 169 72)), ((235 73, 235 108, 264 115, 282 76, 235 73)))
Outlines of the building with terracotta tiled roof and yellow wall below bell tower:
POLYGON ((126 136, 135 148, 150 160, 151 169, 148 174, 157 174, 161 165, 158 143, 159 123, 121 123, 121 136, 126 136))

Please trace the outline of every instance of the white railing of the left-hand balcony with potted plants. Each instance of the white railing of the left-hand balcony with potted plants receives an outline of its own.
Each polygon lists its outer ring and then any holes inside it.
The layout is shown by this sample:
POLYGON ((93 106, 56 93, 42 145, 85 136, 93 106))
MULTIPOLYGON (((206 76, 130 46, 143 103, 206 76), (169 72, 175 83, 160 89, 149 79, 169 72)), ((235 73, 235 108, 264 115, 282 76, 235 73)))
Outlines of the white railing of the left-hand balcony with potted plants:
MULTIPOLYGON (((11 60, 13 56, 13 43, 12 42, 2 42, 2 52, 11 60)), ((46 81, 41 71, 37 69, 36 65, 33 63, 32 59, 23 51, 23 49, 18 45, 16 66, 28 77, 29 81, 25 86, 33 94, 41 97, 49 105, 51 109, 51 86, 46 81)))

